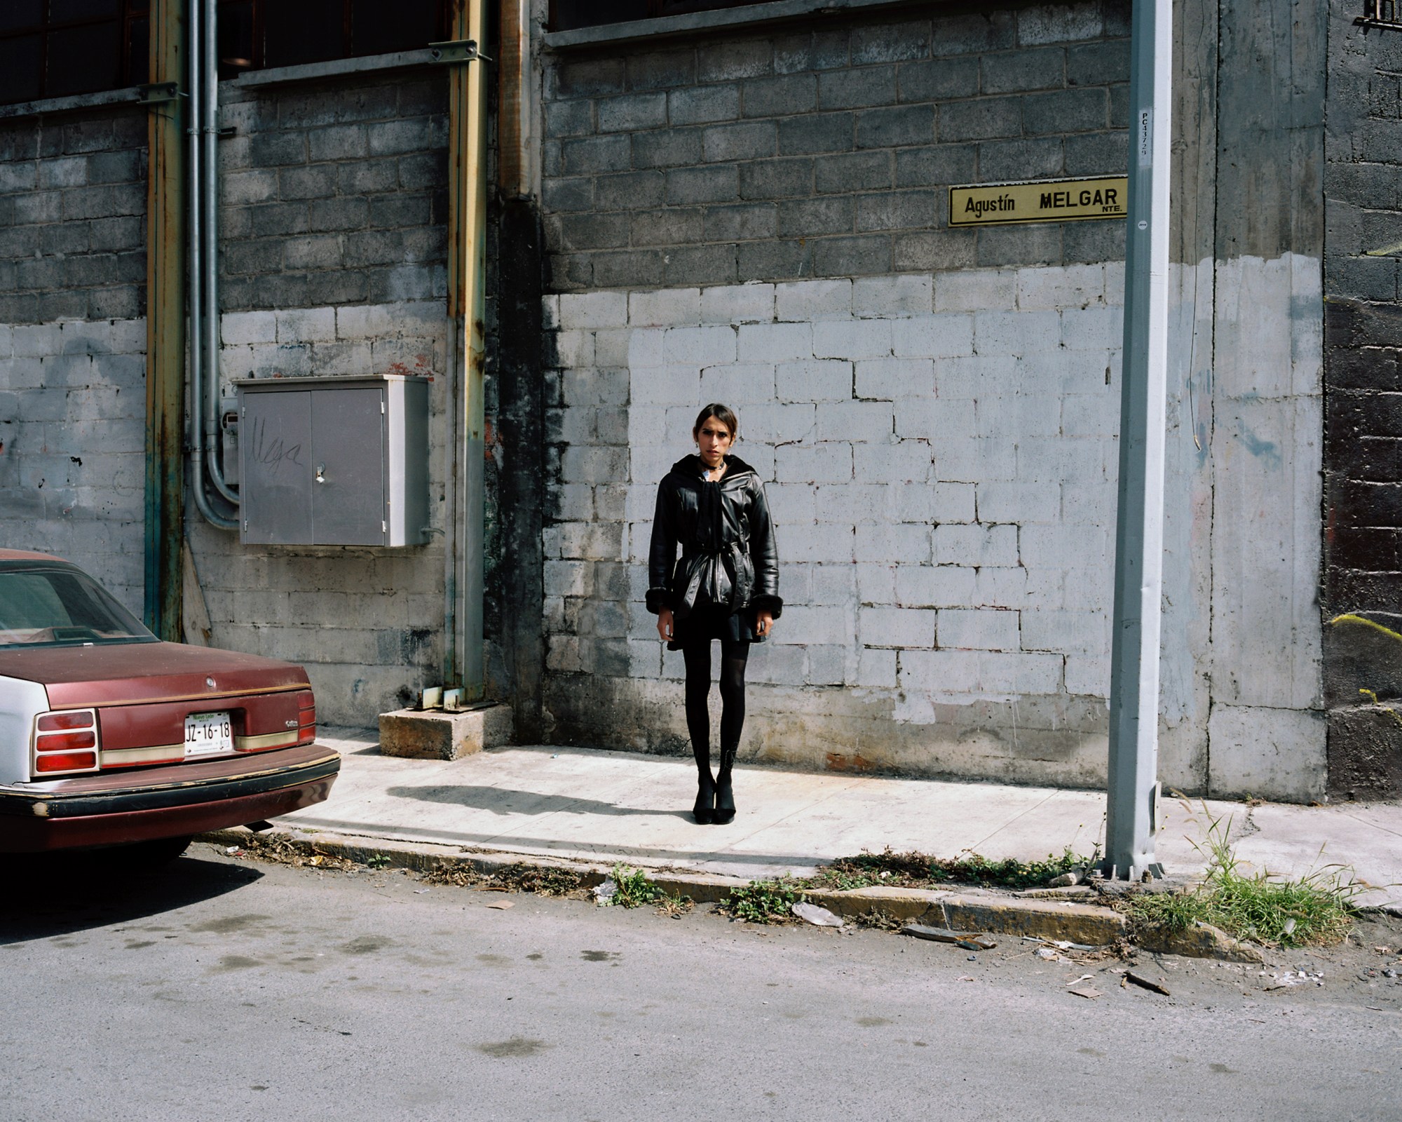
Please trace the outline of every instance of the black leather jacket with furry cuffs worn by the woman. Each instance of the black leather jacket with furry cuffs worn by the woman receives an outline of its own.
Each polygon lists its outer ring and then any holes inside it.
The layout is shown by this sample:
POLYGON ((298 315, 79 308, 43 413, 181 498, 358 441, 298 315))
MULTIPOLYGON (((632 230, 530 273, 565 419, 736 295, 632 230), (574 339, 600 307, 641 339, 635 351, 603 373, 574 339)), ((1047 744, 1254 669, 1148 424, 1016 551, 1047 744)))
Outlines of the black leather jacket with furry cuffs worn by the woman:
POLYGON ((725 461, 719 482, 702 478, 700 456, 684 456, 658 484, 648 550, 648 611, 655 616, 670 607, 686 619, 698 597, 735 611, 764 609, 774 619, 784 610, 764 484, 739 457, 725 461))

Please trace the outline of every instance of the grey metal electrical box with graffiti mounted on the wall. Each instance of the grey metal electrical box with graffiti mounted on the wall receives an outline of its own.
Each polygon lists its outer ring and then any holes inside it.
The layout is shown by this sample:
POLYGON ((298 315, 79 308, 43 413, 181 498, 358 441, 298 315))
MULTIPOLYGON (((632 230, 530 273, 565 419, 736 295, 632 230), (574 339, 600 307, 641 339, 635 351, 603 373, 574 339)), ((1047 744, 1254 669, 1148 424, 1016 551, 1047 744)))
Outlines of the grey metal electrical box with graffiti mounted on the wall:
POLYGON ((376 374, 234 384, 244 544, 428 540, 428 379, 376 374))

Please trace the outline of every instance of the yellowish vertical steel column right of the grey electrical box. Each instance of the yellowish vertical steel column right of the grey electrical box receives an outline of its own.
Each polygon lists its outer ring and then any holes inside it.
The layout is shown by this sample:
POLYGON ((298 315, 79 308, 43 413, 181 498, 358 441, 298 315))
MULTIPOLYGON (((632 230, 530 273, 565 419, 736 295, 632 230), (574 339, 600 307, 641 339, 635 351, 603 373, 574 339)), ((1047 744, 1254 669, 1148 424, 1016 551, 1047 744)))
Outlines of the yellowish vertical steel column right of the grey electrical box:
MULTIPOLYGON (((486 45, 485 0, 454 0, 453 39, 486 45)), ((471 56, 449 70, 447 302, 457 373, 457 433, 449 471, 460 481, 461 520, 449 533, 444 680, 479 700, 482 666, 482 536, 486 356, 486 65, 471 56), (457 463, 451 463, 453 460, 457 463)), ((453 398, 450 387, 450 398, 453 398)), ((454 502, 454 496, 449 496, 454 502)))

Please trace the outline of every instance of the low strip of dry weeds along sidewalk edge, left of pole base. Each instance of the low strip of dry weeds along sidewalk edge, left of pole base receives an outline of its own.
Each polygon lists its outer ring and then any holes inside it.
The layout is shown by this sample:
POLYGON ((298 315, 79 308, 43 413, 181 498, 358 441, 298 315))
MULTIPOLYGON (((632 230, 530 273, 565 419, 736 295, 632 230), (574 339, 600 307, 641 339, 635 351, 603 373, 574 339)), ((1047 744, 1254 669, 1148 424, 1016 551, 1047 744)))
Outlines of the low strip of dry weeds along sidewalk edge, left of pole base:
POLYGON ((893 853, 886 849, 882 853, 864 851, 857 857, 841 857, 820 868, 809 884, 837 891, 872 885, 932 888, 946 884, 1037 888, 1063 872, 1088 868, 1098 860, 1099 853, 1080 856, 1070 846, 1060 857, 1049 853, 1044 861, 991 861, 977 853, 931 857, 925 853, 893 853))

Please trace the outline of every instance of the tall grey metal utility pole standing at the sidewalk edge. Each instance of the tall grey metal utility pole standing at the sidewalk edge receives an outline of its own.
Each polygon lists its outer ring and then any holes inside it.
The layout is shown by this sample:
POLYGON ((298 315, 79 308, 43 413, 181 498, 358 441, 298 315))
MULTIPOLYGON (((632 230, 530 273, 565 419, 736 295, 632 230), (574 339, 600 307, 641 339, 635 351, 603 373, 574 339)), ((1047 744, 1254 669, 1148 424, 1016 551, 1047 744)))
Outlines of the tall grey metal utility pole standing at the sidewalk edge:
POLYGON ((1130 198, 1124 261, 1120 482, 1110 641, 1108 877, 1161 875, 1158 644, 1164 569, 1168 390, 1168 161, 1172 0, 1134 0, 1130 41, 1130 198))

